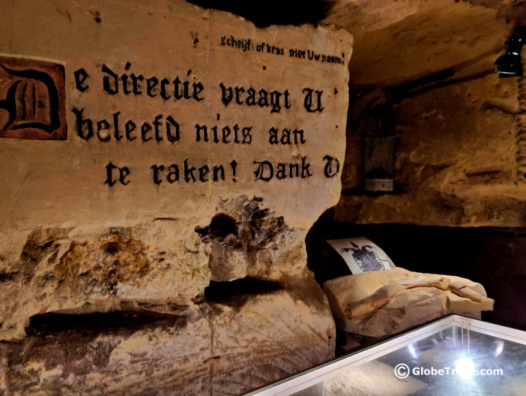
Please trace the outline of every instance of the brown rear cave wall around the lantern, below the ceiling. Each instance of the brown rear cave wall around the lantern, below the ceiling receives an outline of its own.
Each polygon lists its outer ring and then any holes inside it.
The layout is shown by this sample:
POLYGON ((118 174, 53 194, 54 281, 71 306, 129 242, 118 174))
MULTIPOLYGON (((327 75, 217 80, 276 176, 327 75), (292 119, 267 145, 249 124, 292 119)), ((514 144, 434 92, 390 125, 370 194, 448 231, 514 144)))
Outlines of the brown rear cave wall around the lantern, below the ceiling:
MULTIPOLYGON (((521 87, 520 79, 490 74, 448 81, 394 104, 395 191, 361 193, 361 164, 352 159, 361 161, 357 147, 362 140, 352 134, 335 219, 364 224, 524 225, 521 87)), ((363 122, 358 117, 350 125, 360 130, 363 122)))

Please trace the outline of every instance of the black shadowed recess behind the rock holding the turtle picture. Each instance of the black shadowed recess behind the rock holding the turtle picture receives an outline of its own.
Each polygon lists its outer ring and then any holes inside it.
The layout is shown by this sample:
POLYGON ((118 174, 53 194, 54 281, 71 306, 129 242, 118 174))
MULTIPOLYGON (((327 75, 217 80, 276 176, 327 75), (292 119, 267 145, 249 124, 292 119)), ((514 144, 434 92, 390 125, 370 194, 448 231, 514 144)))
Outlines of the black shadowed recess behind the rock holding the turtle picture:
POLYGON ((343 224, 328 214, 306 239, 308 265, 320 284, 350 274, 325 240, 365 236, 397 266, 481 283, 495 300, 494 310, 482 312, 482 320, 526 331, 526 228, 343 224))

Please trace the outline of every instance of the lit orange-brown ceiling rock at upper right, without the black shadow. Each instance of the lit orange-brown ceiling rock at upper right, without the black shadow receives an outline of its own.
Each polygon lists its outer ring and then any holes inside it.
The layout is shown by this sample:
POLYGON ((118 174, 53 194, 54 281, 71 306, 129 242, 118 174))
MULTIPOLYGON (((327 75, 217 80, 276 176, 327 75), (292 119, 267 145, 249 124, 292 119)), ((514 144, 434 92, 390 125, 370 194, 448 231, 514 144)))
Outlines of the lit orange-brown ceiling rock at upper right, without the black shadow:
POLYGON ((513 31, 507 18, 516 13, 513 3, 498 1, 338 0, 323 22, 346 27, 360 43, 350 65, 352 86, 403 90, 425 77, 432 83, 488 72, 504 53, 513 31))

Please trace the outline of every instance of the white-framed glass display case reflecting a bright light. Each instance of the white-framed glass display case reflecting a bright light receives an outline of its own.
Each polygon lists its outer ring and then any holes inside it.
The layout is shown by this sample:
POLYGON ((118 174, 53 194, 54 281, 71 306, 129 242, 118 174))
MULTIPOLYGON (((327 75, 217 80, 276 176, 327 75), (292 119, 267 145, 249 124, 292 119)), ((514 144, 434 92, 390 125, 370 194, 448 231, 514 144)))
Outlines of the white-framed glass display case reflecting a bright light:
POLYGON ((526 332, 449 315, 248 395, 526 394, 526 332))

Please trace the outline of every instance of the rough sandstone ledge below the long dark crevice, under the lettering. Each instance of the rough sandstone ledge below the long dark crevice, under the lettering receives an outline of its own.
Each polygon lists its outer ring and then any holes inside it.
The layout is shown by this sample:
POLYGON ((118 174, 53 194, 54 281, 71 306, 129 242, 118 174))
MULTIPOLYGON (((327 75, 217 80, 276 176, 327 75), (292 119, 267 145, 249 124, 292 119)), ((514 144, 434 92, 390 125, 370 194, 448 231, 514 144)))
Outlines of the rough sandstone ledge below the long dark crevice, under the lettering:
POLYGON ((0 384, 13 394, 242 394, 332 358, 326 304, 262 284, 221 286, 186 311, 55 315, 3 344, 0 384))

